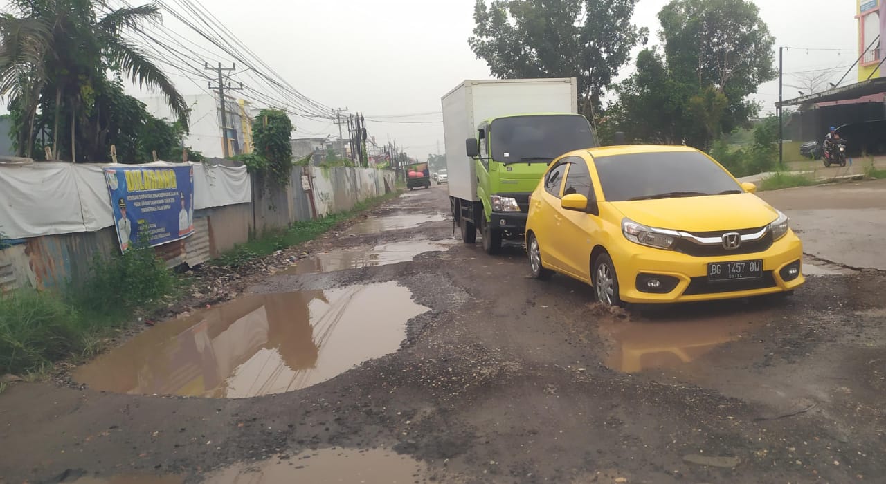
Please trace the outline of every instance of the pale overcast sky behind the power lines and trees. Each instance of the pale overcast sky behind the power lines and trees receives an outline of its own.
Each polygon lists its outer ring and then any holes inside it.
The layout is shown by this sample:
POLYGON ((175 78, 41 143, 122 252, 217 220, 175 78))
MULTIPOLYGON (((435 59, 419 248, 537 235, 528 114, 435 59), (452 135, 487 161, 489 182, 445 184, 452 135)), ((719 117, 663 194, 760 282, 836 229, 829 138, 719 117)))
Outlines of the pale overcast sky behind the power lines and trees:
MULTIPOLYGON (((167 0, 167 2, 170 0, 167 0)), ((175 0, 172 0, 175 1, 175 0)), ((330 107, 362 111, 367 117, 439 111, 439 98, 464 79, 488 78, 486 63, 467 44, 474 27, 474 0, 202 0, 223 24, 291 85, 330 107)), ((657 12, 667 0, 641 0, 635 22, 659 30, 657 12)), ((857 33, 852 0, 757 0, 776 45, 803 49, 785 55, 786 73, 833 69, 836 79, 855 60, 857 33), (809 50, 809 49, 846 49, 809 50), (843 66, 842 69, 837 67, 843 66)), ((164 23, 185 40, 207 45, 171 16, 164 23)), ((652 42, 657 42, 653 35, 652 42)), ((218 50, 214 50, 218 52, 218 50)), ((224 55, 220 56, 225 58, 224 55)), ((775 58, 778 62, 778 58, 775 58)), ((626 67, 626 75, 633 67, 626 67)), ((188 94, 206 81, 175 77, 188 94)), ((237 78, 235 77, 235 80, 237 78)), ((797 81, 786 75, 786 82, 797 81)), ((853 72, 846 83, 856 81, 853 72)), ((785 96, 797 95, 785 88, 785 96)), ((778 82, 759 88, 764 113, 773 111, 778 82)), ((369 133, 384 142, 390 134, 412 155, 426 156, 443 145, 439 114, 370 121, 369 133)), ((338 134, 328 122, 295 119, 296 136, 338 134)))

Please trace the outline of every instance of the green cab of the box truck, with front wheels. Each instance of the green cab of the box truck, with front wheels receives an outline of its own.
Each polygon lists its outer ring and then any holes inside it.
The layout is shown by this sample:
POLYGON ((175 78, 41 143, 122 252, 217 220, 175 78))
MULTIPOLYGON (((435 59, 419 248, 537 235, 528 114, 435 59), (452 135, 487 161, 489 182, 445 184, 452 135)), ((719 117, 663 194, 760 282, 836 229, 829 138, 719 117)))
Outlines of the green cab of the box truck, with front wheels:
POLYGON ((515 114, 486 119, 465 141, 477 175, 478 202, 453 207, 464 242, 482 234, 489 254, 502 240, 523 240, 529 196, 548 165, 563 153, 592 148, 595 136, 584 116, 515 114))

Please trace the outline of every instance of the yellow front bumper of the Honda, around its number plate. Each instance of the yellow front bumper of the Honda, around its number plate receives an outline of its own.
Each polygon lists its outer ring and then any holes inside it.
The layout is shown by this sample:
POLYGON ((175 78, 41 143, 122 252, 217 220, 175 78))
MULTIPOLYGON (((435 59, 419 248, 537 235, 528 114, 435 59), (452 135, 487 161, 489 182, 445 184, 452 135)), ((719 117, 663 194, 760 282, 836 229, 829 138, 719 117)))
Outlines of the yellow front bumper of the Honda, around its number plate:
POLYGON ((688 303, 712 301, 737 297, 765 296, 791 291, 802 286, 803 243, 789 231, 769 249, 751 254, 722 257, 693 257, 672 250, 658 250, 625 241, 622 251, 610 251, 616 273, 621 299, 626 303, 688 303), (748 260, 763 261, 763 277, 750 280, 708 280, 708 264, 748 260), (796 278, 787 274, 789 265, 796 264, 796 278), (670 280, 660 293, 641 290, 638 278, 670 280), (669 290, 668 290, 669 289, 669 290), (664 292, 666 290, 667 292, 664 292))

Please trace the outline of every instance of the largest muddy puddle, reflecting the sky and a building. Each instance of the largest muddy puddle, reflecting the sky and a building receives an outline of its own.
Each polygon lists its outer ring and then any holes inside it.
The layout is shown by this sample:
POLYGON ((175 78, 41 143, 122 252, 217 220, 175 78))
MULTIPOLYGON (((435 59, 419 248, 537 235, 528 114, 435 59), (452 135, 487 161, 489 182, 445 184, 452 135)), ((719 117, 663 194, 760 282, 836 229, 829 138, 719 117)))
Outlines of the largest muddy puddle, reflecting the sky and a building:
POLYGON ((245 398, 305 388, 400 348, 428 308, 395 282, 239 297, 158 324, 74 373, 128 394, 245 398))

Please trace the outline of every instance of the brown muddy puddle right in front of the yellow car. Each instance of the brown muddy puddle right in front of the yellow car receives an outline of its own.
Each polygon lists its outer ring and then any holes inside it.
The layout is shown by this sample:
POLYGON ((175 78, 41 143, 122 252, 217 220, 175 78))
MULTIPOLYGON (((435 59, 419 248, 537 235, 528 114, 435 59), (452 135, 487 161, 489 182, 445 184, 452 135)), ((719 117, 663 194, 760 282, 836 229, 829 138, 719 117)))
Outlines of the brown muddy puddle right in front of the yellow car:
POLYGON ((632 316, 627 321, 604 320, 598 332, 610 342, 606 365, 637 373, 692 365, 718 346, 766 324, 768 316, 765 310, 740 303, 700 304, 632 316))

